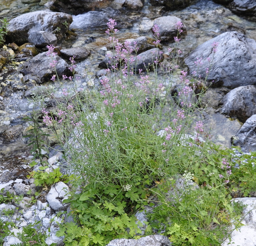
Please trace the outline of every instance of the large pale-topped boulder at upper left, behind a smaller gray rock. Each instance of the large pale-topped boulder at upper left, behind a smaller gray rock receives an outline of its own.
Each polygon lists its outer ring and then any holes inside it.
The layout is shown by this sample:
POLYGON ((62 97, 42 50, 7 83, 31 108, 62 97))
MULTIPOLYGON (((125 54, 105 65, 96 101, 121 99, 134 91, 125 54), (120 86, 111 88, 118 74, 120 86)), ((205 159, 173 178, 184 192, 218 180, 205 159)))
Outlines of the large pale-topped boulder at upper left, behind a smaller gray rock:
POLYGON ((39 10, 17 16, 9 21, 6 40, 10 43, 26 43, 33 31, 51 32, 58 41, 64 38, 72 22, 70 14, 39 10))

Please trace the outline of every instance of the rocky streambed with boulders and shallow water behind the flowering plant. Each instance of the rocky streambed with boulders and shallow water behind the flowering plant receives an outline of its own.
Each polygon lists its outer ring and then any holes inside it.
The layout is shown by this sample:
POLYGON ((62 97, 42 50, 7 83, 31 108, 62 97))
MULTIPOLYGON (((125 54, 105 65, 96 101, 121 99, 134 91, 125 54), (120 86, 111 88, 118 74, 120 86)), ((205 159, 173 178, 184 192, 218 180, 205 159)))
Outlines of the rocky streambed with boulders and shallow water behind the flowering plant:
MULTIPOLYGON (((182 51, 180 69, 189 76, 197 71, 204 78, 209 65, 207 58, 214 56, 206 83, 211 86, 201 101, 198 118, 211 129, 212 139, 217 144, 229 147, 233 143, 244 152, 255 151, 256 3, 240 2, 3 1, 0 16, 7 17, 10 24, 6 44, 0 51, 0 188, 17 195, 27 194, 28 190, 35 192, 33 182, 26 179, 32 170, 28 164, 33 156, 27 146, 28 138, 24 137, 29 128, 24 118, 33 110, 34 91, 53 84, 54 71, 49 68, 51 61, 46 56, 46 45, 58 48, 58 75, 68 75, 69 57, 76 56, 76 76, 80 77, 77 86, 97 88, 99 78, 105 75, 105 56, 111 50, 105 35, 110 18, 117 21, 119 41, 137 41, 139 55, 145 60, 151 59, 149 51, 155 49, 152 27, 157 24, 160 39, 162 37, 163 62, 167 64, 170 50, 175 47, 175 23, 181 21, 184 35, 178 43, 182 51), (216 52, 214 42, 218 43, 216 52), (203 63, 199 69, 195 64, 197 58, 203 63)), ((162 81, 161 74, 158 76, 162 81)), ((64 83, 65 88, 72 87, 72 83, 64 83)), ((179 76, 173 78, 173 91, 179 84, 179 76)), ((50 152, 49 163, 58 166, 58 160, 59 154, 50 152)), ((64 183, 58 186, 59 190, 54 186, 32 207, 28 197, 12 205, 19 208, 14 220, 21 217, 17 228, 41 220, 42 230, 51 229, 49 245, 52 242, 61 245, 63 240, 54 234, 58 229, 58 221, 54 220, 60 220, 56 214, 63 210, 63 204, 56 197, 60 197, 64 186, 68 187, 64 183)), ((0 211, 9 209, 0 206, 0 211)), ((4 245, 19 243, 12 241, 16 239, 6 238, 4 245)))

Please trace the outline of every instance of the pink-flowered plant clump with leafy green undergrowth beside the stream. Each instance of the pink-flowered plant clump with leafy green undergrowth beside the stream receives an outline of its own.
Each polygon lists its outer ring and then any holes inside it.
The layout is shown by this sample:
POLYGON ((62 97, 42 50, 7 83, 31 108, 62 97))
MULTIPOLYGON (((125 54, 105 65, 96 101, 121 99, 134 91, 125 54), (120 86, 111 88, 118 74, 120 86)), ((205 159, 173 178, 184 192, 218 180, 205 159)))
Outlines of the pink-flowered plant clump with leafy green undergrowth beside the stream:
MULTIPOLYGON (((246 179, 256 180, 255 167, 247 156, 248 165, 242 165, 232 149, 210 142, 203 122, 194 118, 204 88, 196 77, 178 70, 177 46, 173 67, 163 67, 162 54, 157 52, 150 66, 137 70, 136 44, 120 44, 115 26, 110 19, 106 33, 113 56, 107 75, 100 79, 101 88, 78 90, 72 57, 73 76, 64 75, 63 80, 72 81, 73 89, 63 88, 54 75, 51 80, 62 90, 62 100, 56 98, 55 111, 42 108, 42 120, 62 144, 67 168, 74 173, 74 192, 66 202, 71 203, 75 222, 60 225, 57 235, 65 236, 65 245, 70 246, 105 246, 115 238, 155 232, 168 236, 173 245, 220 245, 231 233, 231 222, 241 226, 242 206, 232 203, 230 194, 251 192, 253 186, 246 179), (169 71, 163 82, 157 77, 161 71, 169 71), (173 104, 169 91, 177 72, 181 87, 173 104), (134 214, 150 206, 142 231, 134 214)), ((182 23, 176 28, 177 45, 182 23)), ((158 47, 157 26, 153 30, 158 47)), ((214 54, 217 46, 213 44, 214 54)), ((54 47, 48 49, 50 66, 55 67, 54 47)), ((54 99, 54 93, 54 88, 49 89, 44 96, 54 99)), ((43 185, 63 178, 58 170, 54 172, 31 175, 43 185)))

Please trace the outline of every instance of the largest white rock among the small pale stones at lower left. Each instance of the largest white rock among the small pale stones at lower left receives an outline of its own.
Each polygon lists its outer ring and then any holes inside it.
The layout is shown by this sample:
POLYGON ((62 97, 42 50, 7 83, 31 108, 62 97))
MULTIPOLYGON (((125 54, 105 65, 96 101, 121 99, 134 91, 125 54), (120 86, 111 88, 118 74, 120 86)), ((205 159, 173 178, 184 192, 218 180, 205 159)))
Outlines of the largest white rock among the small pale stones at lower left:
POLYGON ((67 192, 69 192, 68 186, 63 182, 58 182, 51 187, 51 190, 46 196, 49 206, 54 211, 67 210, 68 204, 63 204, 62 201, 67 199, 67 192))

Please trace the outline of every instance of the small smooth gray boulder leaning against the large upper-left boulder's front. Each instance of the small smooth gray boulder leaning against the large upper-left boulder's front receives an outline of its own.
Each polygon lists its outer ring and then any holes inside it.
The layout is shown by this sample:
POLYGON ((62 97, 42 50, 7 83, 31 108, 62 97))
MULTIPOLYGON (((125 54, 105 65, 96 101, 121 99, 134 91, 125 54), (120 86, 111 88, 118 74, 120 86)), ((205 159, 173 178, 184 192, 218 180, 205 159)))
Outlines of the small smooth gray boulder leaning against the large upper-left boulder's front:
POLYGON ((31 31, 28 42, 37 47, 45 47, 46 45, 56 45, 57 37, 51 32, 31 31))

